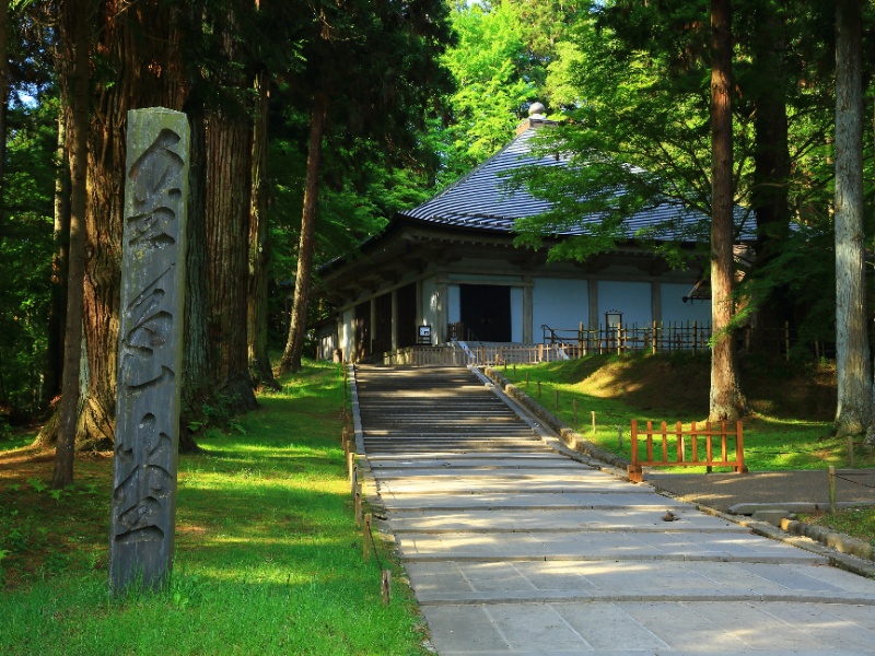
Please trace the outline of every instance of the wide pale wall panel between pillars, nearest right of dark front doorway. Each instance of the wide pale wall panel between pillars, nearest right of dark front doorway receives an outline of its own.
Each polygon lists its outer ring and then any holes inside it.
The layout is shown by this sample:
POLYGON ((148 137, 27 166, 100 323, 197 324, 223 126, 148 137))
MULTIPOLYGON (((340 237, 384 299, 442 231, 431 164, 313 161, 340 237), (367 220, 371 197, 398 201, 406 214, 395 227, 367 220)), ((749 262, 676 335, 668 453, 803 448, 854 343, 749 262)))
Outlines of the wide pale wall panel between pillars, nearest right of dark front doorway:
POLYGON ((532 330, 540 341, 547 324, 553 330, 576 330, 586 326, 590 316, 590 291, 585 280, 535 278, 532 289, 532 330))

